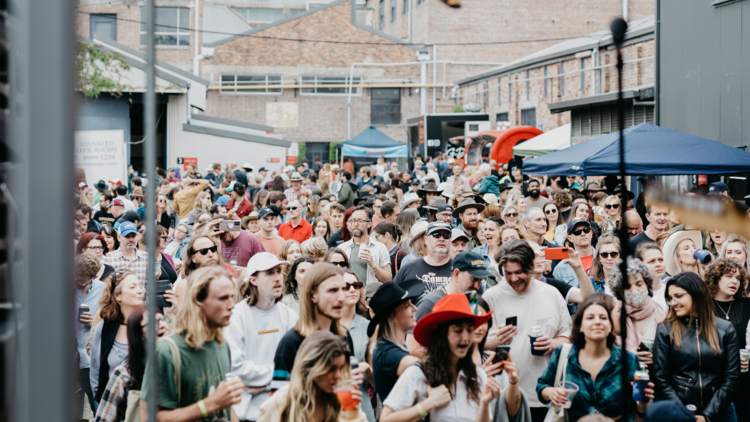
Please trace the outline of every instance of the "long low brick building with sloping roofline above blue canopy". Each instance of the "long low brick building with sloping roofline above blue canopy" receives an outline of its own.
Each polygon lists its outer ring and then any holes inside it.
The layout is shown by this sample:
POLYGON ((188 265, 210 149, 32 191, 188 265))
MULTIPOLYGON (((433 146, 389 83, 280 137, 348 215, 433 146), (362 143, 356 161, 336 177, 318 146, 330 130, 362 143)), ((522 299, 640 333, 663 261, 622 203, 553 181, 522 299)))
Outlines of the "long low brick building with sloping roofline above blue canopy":
MULTIPOLYGON (((622 50, 626 127, 654 123, 654 18, 630 22, 622 50)), ((609 29, 572 38, 455 83, 456 103, 476 102, 493 127, 544 131, 571 123, 572 142, 618 130, 616 52, 609 29)))

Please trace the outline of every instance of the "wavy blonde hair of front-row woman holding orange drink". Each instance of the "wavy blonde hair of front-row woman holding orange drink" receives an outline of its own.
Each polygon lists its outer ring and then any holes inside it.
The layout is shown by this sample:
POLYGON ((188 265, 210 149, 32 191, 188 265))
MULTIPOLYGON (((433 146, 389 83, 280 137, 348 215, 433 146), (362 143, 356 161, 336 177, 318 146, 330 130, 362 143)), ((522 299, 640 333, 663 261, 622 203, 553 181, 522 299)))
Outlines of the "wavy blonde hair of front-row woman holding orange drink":
POLYGON ((320 391, 315 378, 331 371, 333 360, 344 356, 347 362, 341 368, 343 378, 350 377, 349 351, 341 338, 329 331, 310 333, 300 345, 292 368, 289 392, 281 412, 281 421, 312 421, 315 419, 317 398, 323 406, 323 421, 337 422, 341 404, 336 394, 320 391))

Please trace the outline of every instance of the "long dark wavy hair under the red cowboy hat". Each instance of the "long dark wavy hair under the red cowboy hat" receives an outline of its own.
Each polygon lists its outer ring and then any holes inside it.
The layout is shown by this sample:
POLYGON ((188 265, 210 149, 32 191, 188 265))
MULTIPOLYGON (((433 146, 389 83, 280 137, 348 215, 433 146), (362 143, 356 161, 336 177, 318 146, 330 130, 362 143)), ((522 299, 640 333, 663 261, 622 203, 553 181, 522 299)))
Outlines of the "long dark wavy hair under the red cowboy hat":
POLYGON ((430 345, 427 348, 427 356, 422 361, 422 371, 424 372, 425 381, 430 387, 445 385, 453 396, 453 386, 458 382, 458 374, 463 371, 466 381, 466 391, 469 393, 469 399, 479 403, 479 377, 477 376, 477 367, 472 358, 474 354, 474 343, 472 341, 466 356, 458 360, 456 371, 451 367, 451 348, 448 343, 448 330, 452 325, 461 324, 474 325, 473 319, 455 319, 444 322, 437 326, 432 333, 430 345))

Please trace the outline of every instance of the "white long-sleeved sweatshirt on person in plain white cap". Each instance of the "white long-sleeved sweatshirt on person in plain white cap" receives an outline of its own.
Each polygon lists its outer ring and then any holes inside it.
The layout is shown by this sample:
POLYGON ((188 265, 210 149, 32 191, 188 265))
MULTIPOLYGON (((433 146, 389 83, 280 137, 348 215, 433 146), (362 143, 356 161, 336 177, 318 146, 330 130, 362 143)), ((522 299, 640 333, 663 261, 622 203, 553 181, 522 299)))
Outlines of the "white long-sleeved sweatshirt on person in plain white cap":
MULTIPOLYGON (((249 306, 247 301, 237 304, 224 328, 224 338, 232 355, 232 372, 249 387, 271 384, 273 359, 276 348, 287 331, 294 328, 299 316, 281 302, 268 311, 249 306)), ((240 404, 234 405, 239 420, 254 421, 260 415, 260 406, 270 397, 270 392, 256 395, 242 393, 240 404)))

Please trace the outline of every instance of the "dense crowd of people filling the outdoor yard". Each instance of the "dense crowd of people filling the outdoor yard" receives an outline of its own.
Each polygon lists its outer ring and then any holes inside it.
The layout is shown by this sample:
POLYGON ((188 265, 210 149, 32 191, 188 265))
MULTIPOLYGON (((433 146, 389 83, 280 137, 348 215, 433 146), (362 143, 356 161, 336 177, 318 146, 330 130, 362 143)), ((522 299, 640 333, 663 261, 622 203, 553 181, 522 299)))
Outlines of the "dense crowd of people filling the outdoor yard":
POLYGON ((413 164, 81 183, 77 418, 145 421, 155 359, 159 420, 750 420, 747 240, 616 177, 413 164))

